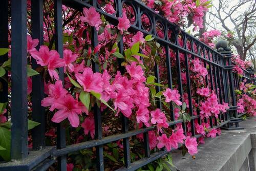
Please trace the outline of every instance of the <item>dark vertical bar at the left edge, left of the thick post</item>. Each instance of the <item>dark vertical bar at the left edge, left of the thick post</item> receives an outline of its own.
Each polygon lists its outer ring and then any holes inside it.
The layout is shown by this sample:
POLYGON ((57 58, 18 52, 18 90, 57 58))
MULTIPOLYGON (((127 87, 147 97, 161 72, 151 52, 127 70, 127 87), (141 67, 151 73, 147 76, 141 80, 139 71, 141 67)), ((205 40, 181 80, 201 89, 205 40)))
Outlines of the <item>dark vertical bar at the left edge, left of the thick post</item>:
MULTIPOLYGON (((8 0, 3 0, 0 6, 0 48, 8 48, 8 0)), ((8 53, 0 57, 0 63, 8 60, 8 53)), ((8 73, 6 72, 5 78, 7 79, 8 73)), ((2 84, 2 91, 0 91, 0 103, 8 102, 8 82, 0 78, 2 84)), ((7 114, 8 115, 8 114, 7 114)))

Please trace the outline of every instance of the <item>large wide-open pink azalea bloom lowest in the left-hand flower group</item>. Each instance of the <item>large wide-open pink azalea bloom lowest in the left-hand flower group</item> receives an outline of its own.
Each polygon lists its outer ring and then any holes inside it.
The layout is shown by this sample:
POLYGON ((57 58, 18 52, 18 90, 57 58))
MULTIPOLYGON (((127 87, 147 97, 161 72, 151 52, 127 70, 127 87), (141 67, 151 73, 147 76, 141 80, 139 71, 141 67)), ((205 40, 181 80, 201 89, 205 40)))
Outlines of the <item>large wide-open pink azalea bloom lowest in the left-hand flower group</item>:
POLYGON ((82 108, 82 106, 79 105, 78 101, 75 100, 70 94, 66 95, 61 100, 56 101, 55 107, 59 111, 57 111, 53 115, 52 121, 59 123, 65 120, 66 118, 68 118, 71 126, 73 127, 78 127, 79 125, 78 115, 86 111, 85 107, 82 108))

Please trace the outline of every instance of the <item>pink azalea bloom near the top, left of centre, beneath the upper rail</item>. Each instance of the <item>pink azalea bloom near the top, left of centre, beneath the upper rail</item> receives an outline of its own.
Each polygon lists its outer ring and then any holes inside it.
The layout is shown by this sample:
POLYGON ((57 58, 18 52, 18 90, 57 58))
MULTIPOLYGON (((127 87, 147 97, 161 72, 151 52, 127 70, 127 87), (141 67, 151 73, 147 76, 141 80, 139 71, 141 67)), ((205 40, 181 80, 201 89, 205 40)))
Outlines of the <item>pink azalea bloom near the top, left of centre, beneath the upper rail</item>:
POLYGON ((102 24, 102 21, 100 19, 100 14, 96 12, 94 7, 83 8, 83 15, 84 17, 80 17, 82 22, 88 23, 90 26, 93 26, 96 28, 96 30, 99 30, 99 25, 102 24))

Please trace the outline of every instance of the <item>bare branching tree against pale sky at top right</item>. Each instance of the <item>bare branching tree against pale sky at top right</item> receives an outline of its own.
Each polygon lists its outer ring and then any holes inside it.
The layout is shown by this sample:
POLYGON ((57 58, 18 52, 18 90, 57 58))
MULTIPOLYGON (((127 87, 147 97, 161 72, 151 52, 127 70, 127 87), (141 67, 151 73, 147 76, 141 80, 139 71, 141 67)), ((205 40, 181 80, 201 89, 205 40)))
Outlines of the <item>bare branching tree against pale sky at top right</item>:
POLYGON ((214 29, 221 25, 229 33, 223 36, 236 48, 241 59, 245 60, 253 52, 253 55, 256 55, 255 50, 250 50, 256 41, 255 14, 256 1, 254 0, 217 0, 217 4, 208 12, 206 22, 208 27, 214 29))

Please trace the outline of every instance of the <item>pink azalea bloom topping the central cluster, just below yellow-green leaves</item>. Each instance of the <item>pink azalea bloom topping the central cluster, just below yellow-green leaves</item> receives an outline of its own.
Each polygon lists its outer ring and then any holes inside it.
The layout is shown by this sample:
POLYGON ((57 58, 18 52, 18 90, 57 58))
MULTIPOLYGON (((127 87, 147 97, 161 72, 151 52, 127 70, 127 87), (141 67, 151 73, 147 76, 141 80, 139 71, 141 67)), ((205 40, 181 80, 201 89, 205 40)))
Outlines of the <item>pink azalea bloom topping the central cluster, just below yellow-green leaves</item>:
POLYGON ((135 80, 141 80, 144 78, 144 72, 141 66, 137 66, 136 62, 132 62, 131 65, 126 65, 125 69, 135 80))

